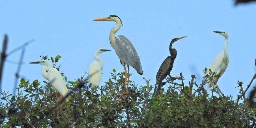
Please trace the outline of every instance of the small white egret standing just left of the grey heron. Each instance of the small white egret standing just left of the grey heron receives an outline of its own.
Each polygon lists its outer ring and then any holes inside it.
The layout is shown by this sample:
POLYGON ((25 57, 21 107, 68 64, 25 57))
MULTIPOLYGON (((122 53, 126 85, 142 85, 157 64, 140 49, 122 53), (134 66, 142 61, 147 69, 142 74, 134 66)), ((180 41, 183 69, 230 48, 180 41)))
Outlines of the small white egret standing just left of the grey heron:
POLYGON ((95 51, 95 53, 94 53, 94 58, 96 60, 94 60, 90 64, 90 67, 89 67, 89 80, 91 82, 91 87, 93 87, 93 88, 97 88, 97 86, 99 86, 100 79, 101 79, 101 70, 103 68, 103 61, 98 56, 98 54, 106 52, 106 51, 110 51, 110 50, 101 49, 101 48, 97 49, 95 51))

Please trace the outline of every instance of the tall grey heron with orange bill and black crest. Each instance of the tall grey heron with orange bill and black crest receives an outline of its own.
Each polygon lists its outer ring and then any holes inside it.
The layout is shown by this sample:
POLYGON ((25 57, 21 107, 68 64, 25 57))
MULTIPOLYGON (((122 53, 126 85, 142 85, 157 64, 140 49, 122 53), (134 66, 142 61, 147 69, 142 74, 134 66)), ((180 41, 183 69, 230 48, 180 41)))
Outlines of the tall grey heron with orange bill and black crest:
MULTIPOLYGON (((109 41, 111 46, 115 49, 116 55, 119 57, 124 70, 125 70, 125 83, 124 83, 124 93, 128 92, 129 86, 129 66, 136 69, 136 71, 142 75, 143 71, 141 68, 140 58, 137 54, 136 49, 132 45, 132 43, 124 36, 124 35, 117 35, 115 37, 115 33, 120 29, 122 21, 116 15, 110 15, 104 18, 94 19, 94 21, 114 21, 116 22, 116 27, 112 28, 109 35, 109 41), (126 71, 126 67, 128 72, 126 71), (127 90, 126 90, 126 82, 127 82, 127 90)), ((122 24, 123 25, 123 24, 122 24)), ((121 96, 120 96, 121 97, 121 96)))

